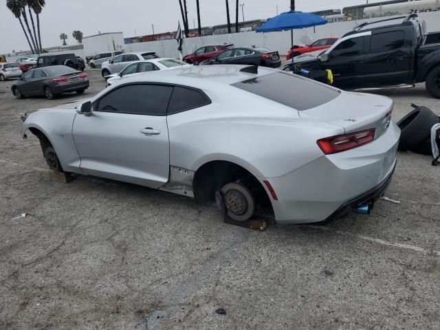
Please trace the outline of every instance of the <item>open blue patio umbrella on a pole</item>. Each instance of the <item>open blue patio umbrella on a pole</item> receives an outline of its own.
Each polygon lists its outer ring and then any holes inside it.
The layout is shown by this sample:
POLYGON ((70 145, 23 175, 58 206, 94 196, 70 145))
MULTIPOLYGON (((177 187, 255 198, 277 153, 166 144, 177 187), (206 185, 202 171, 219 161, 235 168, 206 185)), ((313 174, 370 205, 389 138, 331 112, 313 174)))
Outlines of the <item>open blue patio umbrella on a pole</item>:
MULTIPOLYGON (((256 32, 277 32, 291 31, 292 49, 294 47, 294 30, 310 28, 311 26, 327 24, 327 19, 311 12, 283 12, 266 23, 261 25, 256 32)), ((292 69, 294 68, 294 57, 292 56, 292 69)))

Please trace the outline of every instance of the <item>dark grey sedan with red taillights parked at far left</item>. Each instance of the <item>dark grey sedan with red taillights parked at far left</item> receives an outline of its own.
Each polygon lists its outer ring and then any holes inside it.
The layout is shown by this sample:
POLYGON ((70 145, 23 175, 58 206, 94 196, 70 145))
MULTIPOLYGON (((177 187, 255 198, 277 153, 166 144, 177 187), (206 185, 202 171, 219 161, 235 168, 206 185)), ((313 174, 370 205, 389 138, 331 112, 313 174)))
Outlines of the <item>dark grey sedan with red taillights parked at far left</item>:
POLYGON ((76 91, 83 94, 89 88, 87 74, 64 65, 32 69, 11 86, 18 99, 28 96, 46 96, 53 100, 62 93, 76 91))

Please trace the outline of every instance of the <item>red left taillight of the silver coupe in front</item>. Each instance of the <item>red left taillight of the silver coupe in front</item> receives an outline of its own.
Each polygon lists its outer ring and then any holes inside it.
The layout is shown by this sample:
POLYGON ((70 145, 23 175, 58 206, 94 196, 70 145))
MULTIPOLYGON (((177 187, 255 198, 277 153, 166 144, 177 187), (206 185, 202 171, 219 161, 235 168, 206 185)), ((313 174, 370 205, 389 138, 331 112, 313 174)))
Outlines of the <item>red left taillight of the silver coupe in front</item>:
POLYGON ((357 133, 325 137, 324 139, 316 141, 316 143, 326 155, 331 155, 332 153, 341 153, 342 151, 357 148, 358 146, 362 146, 363 144, 373 141, 375 131, 375 129, 370 129, 368 131, 361 131, 357 133))

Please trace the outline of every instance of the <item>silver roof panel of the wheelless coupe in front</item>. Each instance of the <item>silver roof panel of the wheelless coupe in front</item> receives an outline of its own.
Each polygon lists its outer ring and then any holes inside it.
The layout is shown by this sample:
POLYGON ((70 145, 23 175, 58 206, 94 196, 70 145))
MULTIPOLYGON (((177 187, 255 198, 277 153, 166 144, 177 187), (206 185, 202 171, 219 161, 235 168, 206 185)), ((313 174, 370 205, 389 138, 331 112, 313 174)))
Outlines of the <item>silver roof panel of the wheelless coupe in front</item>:
POLYGON ((248 65, 182 65, 173 70, 153 71, 127 77, 124 83, 170 83, 205 89, 209 83, 232 85, 239 81, 279 72, 276 69, 259 67, 258 74, 241 72, 248 65))

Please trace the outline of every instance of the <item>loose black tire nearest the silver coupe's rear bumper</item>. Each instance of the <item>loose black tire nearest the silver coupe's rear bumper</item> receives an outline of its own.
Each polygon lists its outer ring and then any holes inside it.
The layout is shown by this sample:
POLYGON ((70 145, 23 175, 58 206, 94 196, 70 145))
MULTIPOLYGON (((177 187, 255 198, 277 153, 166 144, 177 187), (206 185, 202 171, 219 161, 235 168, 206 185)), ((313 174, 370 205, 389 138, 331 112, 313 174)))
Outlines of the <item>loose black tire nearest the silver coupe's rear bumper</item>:
POLYGON ((399 151, 416 148, 430 136, 431 127, 439 122, 439 117, 426 107, 412 110, 397 122, 401 129, 399 151))

